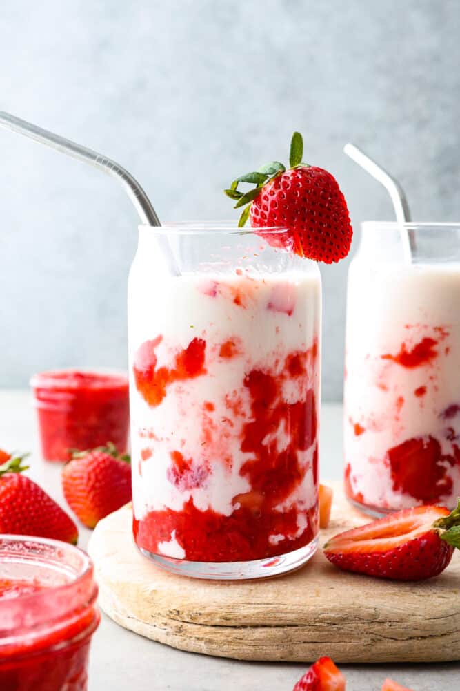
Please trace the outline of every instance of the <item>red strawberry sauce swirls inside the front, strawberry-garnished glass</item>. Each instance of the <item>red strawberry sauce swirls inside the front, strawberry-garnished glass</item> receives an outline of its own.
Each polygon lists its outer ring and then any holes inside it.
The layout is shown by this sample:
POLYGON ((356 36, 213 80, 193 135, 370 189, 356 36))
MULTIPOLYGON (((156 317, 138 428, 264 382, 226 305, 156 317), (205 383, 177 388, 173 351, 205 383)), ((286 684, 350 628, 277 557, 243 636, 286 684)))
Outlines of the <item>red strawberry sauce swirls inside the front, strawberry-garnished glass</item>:
MULTIPOLYGON (((157 368, 153 344, 160 342, 161 337, 146 341, 134 359, 137 390, 150 406, 159 406, 179 379, 208 376, 211 349, 203 339, 190 341, 172 358, 170 367, 157 368)), ((228 359, 244 357, 235 343, 238 339, 223 343, 221 366, 228 359)), ((226 435, 233 435, 232 448, 239 451, 234 457, 217 455, 212 462, 204 455, 188 457, 172 451, 166 477, 174 491, 183 494, 182 507, 165 506, 148 511, 141 520, 134 518, 139 547, 161 553, 161 543, 173 537, 186 560, 233 562, 278 556, 312 541, 318 529, 318 360, 316 342, 309 350, 285 350, 268 367, 248 368, 243 381, 234 381, 221 400, 197 401, 205 411, 203 439, 215 434, 214 408, 225 405, 226 419, 221 423, 226 435), (234 464, 249 489, 233 497, 230 515, 210 506, 199 508, 194 489, 206 487, 217 466, 231 468, 234 464)), ((146 462, 154 463, 154 454, 146 462)))

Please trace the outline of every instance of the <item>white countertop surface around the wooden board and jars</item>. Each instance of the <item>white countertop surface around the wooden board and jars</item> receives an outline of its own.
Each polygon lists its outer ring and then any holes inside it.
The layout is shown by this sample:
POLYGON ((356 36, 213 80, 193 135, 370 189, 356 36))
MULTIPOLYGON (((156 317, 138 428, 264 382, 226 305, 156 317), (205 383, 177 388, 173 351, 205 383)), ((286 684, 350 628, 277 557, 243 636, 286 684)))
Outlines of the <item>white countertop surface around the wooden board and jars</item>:
MULTIPOLYGON (((342 408, 321 412, 321 477, 339 479, 342 468, 342 408)), ((0 391, 0 448, 31 451, 29 474, 66 507, 60 464, 39 455, 34 411, 28 392, 0 391)), ((69 511, 68 507, 66 510, 69 511)), ((90 531, 79 526, 79 546, 90 531)), ((459 652, 460 654, 460 652, 459 652)), ((174 650, 126 631, 105 615, 92 641, 88 691, 292 691, 308 663, 250 663, 174 650)), ((460 663, 425 665, 340 665, 350 691, 379 691, 386 676, 414 691, 456 691, 460 663)))

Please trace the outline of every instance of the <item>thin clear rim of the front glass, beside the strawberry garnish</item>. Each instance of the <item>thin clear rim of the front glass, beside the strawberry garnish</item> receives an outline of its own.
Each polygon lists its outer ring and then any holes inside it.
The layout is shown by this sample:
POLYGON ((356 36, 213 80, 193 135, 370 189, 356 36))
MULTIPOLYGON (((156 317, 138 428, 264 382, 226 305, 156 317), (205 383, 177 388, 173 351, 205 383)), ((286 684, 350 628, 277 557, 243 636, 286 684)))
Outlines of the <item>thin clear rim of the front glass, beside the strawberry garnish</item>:
POLYGON ((152 235, 206 235, 215 232, 219 235, 268 235, 283 234, 289 231, 288 227, 271 226, 252 228, 250 225, 238 227, 237 220, 205 220, 183 221, 178 223, 163 223, 163 225, 139 225, 139 231, 148 231, 152 235))

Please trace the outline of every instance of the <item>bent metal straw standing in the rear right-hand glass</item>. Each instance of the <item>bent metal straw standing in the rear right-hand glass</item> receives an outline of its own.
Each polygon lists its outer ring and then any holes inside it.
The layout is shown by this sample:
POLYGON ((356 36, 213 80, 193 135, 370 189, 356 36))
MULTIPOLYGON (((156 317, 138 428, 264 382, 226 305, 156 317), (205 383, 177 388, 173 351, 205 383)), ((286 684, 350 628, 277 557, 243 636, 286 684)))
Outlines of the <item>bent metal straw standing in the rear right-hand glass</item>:
POLYGON ((412 254, 415 250, 415 238, 412 231, 405 227, 406 223, 410 223, 410 209, 408 205, 408 200, 406 194, 404 193, 401 184, 390 176, 379 164, 377 164, 372 158, 370 158, 366 153, 358 149, 354 144, 346 144, 343 146, 343 151, 346 155, 350 156, 355 163, 357 163, 361 168, 367 171, 372 178, 379 180, 383 187, 388 191, 394 206, 394 212, 396 214, 397 222, 401 226, 401 240, 403 243, 403 254, 404 258, 408 263, 412 262, 412 254))

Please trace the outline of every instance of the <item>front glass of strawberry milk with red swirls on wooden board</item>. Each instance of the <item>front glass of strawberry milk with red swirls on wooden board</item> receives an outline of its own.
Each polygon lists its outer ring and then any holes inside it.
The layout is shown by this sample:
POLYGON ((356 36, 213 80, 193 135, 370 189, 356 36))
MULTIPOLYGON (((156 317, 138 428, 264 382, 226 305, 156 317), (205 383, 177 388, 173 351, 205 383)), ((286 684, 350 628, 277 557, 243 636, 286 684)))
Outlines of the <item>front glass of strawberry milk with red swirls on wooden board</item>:
POLYGON ((318 534, 321 281, 286 229, 142 226, 128 319, 134 539, 198 578, 301 566, 318 534), (161 263, 168 238, 179 276, 161 263))

